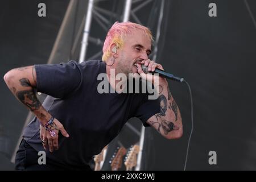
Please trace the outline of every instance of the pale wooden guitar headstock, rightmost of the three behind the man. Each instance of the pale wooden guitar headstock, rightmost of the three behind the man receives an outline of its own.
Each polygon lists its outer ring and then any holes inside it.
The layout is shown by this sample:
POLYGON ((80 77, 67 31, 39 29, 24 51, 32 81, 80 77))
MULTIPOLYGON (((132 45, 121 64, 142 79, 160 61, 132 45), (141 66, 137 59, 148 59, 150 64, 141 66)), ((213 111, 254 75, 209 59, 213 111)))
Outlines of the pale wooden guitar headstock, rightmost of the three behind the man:
POLYGON ((138 144, 135 144, 134 146, 131 146, 129 151, 127 152, 126 158, 125 158, 125 166, 126 171, 131 171, 133 167, 137 165, 137 154, 139 153, 139 146, 138 144))

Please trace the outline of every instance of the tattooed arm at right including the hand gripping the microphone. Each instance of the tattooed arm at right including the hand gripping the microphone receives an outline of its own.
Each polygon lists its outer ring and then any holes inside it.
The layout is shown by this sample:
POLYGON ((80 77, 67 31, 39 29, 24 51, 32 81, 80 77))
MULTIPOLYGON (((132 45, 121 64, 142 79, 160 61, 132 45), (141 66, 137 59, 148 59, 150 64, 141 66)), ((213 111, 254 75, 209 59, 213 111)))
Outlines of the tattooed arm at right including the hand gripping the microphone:
MULTIPOLYGON (((148 66, 148 72, 154 72, 155 68, 163 70, 162 65, 149 59, 141 61, 141 64, 148 66)), ((138 73, 142 78, 149 79, 148 81, 154 84, 159 93, 160 113, 149 118, 147 123, 154 127, 165 138, 180 138, 183 135, 180 110, 179 107, 177 107, 174 97, 172 97, 166 78, 158 76, 147 77, 147 74, 142 71, 141 65, 138 64, 137 67, 138 73), (158 81, 155 80, 156 78, 158 81)))

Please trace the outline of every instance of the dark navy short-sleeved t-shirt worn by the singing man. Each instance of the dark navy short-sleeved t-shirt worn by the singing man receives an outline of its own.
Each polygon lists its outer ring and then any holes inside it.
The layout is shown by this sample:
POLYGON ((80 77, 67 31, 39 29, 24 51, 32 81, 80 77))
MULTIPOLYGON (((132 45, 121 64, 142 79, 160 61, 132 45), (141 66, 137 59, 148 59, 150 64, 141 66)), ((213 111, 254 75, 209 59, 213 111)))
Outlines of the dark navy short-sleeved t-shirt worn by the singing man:
MULTIPOLYGON (((98 93, 97 80, 106 73, 100 60, 82 63, 35 65, 38 92, 47 94, 44 108, 58 119, 69 138, 59 134, 59 150, 46 154, 49 159, 67 166, 84 166, 100 153, 132 117, 147 119, 159 113, 158 100, 148 94, 98 93)), ((110 85, 109 85, 110 86, 110 85)), ((39 138, 40 127, 35 117, 26 127, 23 138, 37 151, 44 151, 39 138)))

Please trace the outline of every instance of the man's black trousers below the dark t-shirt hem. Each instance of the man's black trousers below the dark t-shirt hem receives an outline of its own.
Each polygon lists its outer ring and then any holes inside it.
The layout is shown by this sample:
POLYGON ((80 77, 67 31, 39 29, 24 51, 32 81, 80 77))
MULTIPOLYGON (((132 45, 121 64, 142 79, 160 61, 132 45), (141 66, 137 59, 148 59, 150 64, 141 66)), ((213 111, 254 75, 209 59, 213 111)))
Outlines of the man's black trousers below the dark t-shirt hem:
POLYGON ((63 166, 46 158, 46 164, 38 164, 38 151, 32 148, 26 140, 22 139, 20 142, 19 150, 16 152, 15 170, 26 171, 63 171, 63 170, 78 170, 78 171, 92 171, 89 166, 85 167, 70 167, 63 166))

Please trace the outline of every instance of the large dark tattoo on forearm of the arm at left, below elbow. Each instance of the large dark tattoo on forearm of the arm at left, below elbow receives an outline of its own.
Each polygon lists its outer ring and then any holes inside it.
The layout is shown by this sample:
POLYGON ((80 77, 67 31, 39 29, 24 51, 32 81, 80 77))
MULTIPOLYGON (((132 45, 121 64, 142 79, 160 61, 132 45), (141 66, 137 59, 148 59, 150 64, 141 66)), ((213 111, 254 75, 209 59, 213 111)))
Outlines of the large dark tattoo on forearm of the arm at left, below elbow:
POLYGON ((42 105, 33 90, 23 90, 16 93, 17 98, 31 111, 37 110, 42 105))

